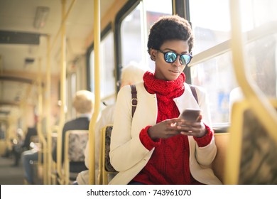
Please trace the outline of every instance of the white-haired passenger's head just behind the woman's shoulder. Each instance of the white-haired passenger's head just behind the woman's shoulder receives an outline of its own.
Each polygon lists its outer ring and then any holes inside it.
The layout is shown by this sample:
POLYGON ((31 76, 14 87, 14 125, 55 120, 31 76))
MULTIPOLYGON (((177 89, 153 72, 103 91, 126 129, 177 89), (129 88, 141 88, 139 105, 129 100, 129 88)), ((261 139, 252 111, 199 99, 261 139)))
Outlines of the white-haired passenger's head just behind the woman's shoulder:
POLYGON ((121 71, 121 87, 124 85, 134 85, 143 81, 143 74, 146 72, 138 63, 131 62, 121 71))

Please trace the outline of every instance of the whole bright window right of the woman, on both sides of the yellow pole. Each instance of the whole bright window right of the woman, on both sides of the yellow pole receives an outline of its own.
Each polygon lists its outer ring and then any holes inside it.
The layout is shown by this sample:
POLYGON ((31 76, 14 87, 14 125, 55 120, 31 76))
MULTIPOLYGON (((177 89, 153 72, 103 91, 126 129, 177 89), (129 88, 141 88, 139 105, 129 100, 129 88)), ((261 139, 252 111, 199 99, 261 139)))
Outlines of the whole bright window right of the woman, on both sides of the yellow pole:
MULTIPOLYGON (((272 9, 277 3, 269 0, 263 4, 255 0, 240 3, 241 29, 246 36, 246 72, 268 97, 276 97, 277 35, 273 27, 276 27, 277 15, 272 9)), ((229 122, 230 98, 242 97, 232 69, 229 17, 227 0, 190 1, 190 19, 195 33, 192 84, 207 90, 214 125, 229 122), (201 8, 205 8, 201 11, 203 15, 199 15, 201 8), (230 93, 237 93, 237 97, 231 97, 230 93)))

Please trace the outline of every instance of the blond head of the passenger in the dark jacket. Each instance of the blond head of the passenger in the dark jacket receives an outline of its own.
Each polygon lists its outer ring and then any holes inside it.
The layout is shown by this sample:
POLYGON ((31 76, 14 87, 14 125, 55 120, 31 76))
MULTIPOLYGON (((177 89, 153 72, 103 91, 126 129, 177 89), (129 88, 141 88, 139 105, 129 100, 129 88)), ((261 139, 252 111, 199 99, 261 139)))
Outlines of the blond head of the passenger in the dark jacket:
POLYGON ((94 94, 88 90, 79 90, 73 99, 73 107, 80 114, 92 113, 94 107, 94 94))

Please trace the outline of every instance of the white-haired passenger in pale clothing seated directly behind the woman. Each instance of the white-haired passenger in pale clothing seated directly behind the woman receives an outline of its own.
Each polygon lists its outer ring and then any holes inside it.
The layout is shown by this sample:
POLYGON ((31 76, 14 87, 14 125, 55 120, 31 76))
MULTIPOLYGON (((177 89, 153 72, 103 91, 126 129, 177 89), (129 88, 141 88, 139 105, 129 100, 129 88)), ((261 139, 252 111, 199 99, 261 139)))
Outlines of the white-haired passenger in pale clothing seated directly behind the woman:
MULTIPOLYGON (((136 84, 137 82, 142 81, 142 77, 144 72, 143 68, 141 68, 138 63, 131 62, 129 65, 127 65, 125 68, 122 69, 121 72, 121 85, 120 87, 124 87, 124 85, 132 85, 136 84)), ((131 95, 131 93, 130 93, 131 95)), ((96 127, 95 127, 95 181, 98 183, 99 179, 99 148, 100 148, 100 136, 101 136, 101 130, 103 127, 105 127, 108 124, 113 124, 114 122, 114 107, 115 104, 110 104, 107 106, 101 114, 101 117, 97 121, 96 127)), ((87 144, 87 147, 85 149, 85 164, 87 168, 89 168, 89 144, 87 144)), ((112 177, 112 176, 111 176, 112 177)), ((75 184, 79 185, 87 185, 89 184, 89 171, 82 171, 77 176, 77 182, 75 184)))

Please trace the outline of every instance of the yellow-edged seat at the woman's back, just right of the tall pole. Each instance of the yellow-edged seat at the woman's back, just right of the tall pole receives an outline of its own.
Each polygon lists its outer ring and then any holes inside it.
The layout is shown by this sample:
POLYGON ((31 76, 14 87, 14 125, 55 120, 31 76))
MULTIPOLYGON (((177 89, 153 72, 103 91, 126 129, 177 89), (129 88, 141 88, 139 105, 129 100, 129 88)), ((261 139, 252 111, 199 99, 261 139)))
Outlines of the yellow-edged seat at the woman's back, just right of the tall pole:
POLYGON ((112 125, 107 125, 101 131, 101 143, 99 154, 99 184, 107 185, 109 178, 116 175, 117 171, 114 169, 109 161, 109 145, 111 143, 112 125))

